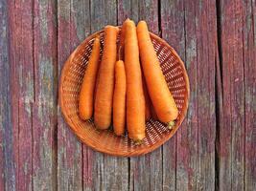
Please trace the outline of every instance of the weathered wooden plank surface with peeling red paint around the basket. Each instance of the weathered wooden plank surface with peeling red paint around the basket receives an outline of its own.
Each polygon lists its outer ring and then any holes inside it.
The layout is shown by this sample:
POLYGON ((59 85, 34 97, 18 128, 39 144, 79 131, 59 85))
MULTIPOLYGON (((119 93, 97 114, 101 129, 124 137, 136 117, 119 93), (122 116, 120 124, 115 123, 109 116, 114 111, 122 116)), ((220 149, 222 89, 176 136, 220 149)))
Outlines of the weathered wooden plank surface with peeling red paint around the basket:
POLYGON ((0 190, 256 190, 255 0, 0 0, 0 190), (191 99, 166 144, 92 151, 58 106, 68 55, 90 33, 145 19, 186 64, 191 99))

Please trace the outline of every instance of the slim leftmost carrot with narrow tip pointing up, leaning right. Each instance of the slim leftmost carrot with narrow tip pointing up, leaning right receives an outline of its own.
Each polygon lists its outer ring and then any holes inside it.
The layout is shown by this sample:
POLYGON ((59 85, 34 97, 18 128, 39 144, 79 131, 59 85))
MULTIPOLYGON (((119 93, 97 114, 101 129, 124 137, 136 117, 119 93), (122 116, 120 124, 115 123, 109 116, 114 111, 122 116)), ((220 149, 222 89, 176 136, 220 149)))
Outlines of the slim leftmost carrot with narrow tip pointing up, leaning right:
POLYGON ((83 76, 79 99, 79 114, 81 119, 87 120, 93 114, 93 97, 100 58, 100 36, 96 36, 88 66, 83 76))

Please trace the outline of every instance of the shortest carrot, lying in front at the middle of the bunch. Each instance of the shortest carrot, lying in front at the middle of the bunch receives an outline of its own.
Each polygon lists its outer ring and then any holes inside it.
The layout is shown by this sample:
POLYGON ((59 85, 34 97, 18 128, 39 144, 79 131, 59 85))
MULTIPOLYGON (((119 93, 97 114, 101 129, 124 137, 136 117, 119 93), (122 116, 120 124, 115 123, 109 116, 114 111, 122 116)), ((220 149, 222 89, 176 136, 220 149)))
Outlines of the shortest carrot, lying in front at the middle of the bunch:
POLYGON ((113 126, 117 136, 125 133, 127 80, 122 60, 115 65, 115 88, 113 96, 113 126))

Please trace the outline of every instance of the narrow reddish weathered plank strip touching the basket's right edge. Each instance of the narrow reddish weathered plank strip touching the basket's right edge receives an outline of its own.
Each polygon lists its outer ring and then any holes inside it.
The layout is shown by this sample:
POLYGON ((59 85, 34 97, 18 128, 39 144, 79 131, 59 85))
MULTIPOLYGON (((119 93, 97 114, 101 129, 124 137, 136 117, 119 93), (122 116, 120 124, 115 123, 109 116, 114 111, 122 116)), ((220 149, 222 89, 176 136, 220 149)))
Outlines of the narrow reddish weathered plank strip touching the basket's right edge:
MULTIPOLYGON (((209 11, 209 10, 206 10, 209 11)), ((177 169, 186 169, 187 184, 179 179, 177 185, 182 189, 201 189, 200 174, 198 171, 198 40, 197 40, 197 3, 190 1, 184 3, 184 31, 185 31, 185 65, 190 77, 190 105, 184 126, 177 135, 177 169), (178 151, 185 153, 179 155, 178 151), (179 163, 179 161, 182 161, 179 163)), ((198 21, 199 22, 199 21, 198 21)), ((214 47, 213 47, 214 48, 214 47)), ((178 170, 177 170, 178 172, 178 170)), ((202 176, 204 173, 202 173, 202 176)), ((180 176, 178 176, 180 177, 180 176)), ((202 182, 203 183, 203 182, 202 182)), ((180 189, 180 188, 179 188, 180 189)))

